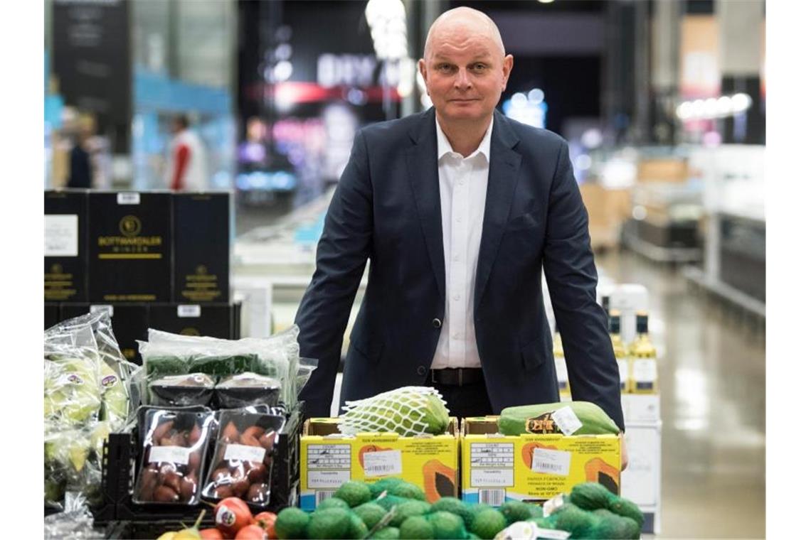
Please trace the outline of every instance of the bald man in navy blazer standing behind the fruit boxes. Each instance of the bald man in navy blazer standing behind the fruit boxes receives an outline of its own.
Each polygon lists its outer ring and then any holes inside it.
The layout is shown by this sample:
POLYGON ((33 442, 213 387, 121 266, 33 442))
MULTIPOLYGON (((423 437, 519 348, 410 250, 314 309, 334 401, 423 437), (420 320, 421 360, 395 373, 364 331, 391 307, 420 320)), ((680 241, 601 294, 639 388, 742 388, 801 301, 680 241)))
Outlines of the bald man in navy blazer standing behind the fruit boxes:
POLYGON ((419 61, 434 106, 355 136, 296 315, 301 354, 320 359, 308 416, 329 414, 367 261, 341 403, 405 385, 435 386, 459 417, 559 401, 543 267, 573 399, 624 429, 569 149, 496 111, 512 69, 487 15, 447 11, 419 61))

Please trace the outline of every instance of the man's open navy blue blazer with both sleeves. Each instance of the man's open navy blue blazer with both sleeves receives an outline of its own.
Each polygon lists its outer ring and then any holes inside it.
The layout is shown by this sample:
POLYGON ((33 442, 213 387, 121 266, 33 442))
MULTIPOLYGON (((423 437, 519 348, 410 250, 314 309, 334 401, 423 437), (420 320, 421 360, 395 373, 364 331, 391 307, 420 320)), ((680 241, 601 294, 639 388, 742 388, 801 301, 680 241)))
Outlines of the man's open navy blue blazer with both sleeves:
MULTIPOLYGON (((424 385, 444 320, 445 279, 434 108, 358 131, 329 205, 316 269, 295 322, 301 355, 320 360, 299 397, 328 416, 341 343, 350 334, 341 404, 424 385)), ((620 376, 597 303, 588 216, 566 142, 495 113, 474 325, 493 410, 557 402, 540 273, 564 342, 575 400, 624 428, 620 376)))

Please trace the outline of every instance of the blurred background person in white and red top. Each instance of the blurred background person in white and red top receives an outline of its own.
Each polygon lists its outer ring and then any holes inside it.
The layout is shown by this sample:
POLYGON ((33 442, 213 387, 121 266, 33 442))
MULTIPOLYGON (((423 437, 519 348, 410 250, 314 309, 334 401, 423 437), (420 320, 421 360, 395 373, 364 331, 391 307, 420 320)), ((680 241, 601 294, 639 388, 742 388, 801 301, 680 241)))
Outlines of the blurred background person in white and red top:
POLYGON ((178 114, 172 119, 174 137, 169 143, 169 189, 195 191, 208 188, 205 147, 189 127, 189 119, 178 114))

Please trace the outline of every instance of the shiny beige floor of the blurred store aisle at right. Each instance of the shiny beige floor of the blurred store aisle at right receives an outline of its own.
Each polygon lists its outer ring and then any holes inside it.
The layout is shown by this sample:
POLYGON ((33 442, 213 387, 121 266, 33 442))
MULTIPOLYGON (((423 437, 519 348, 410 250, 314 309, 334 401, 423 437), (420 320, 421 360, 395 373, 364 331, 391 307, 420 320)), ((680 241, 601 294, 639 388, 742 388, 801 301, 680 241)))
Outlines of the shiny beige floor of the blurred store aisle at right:
POLYGON ((678 270, 631 253, 597 260, 650 291, 663 348, 663 527, 659 538, 764 538, 766 347, 744 321, 692 291, 678 270))

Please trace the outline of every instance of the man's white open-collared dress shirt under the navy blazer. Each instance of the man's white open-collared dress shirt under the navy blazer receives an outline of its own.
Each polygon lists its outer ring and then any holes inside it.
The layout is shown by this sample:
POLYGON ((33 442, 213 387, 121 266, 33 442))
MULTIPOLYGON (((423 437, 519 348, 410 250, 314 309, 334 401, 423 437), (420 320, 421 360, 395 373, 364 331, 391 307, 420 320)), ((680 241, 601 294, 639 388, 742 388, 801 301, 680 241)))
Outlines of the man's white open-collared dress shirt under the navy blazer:
POLYGON ((445 318, 431 369, 480 368, 473 321, 473 294, 482 242, 493 121, 478 148, 466 158, 436 122, 440 172, 442 244, 445 257, 445 318))

